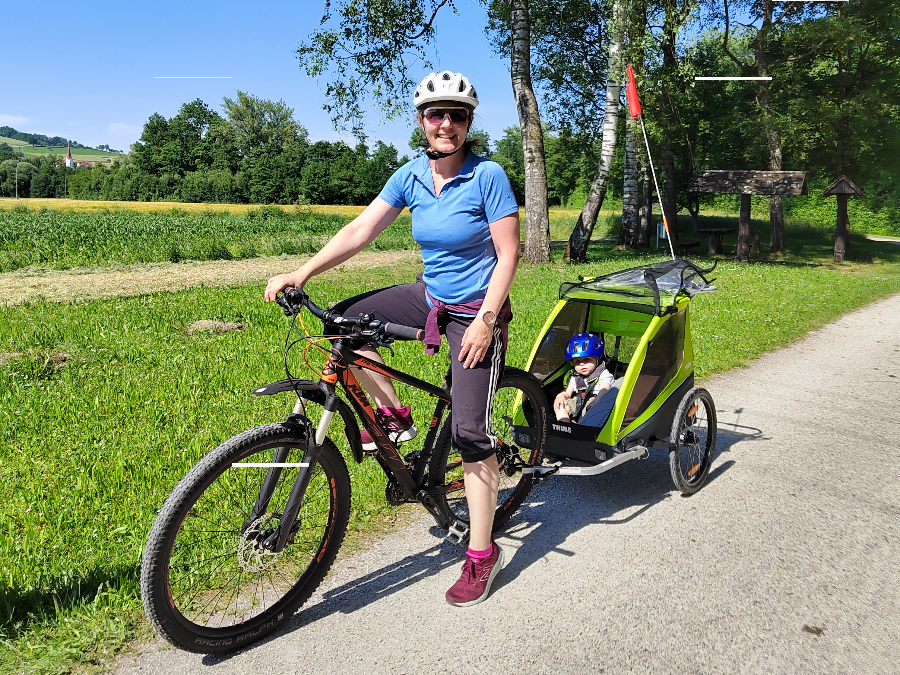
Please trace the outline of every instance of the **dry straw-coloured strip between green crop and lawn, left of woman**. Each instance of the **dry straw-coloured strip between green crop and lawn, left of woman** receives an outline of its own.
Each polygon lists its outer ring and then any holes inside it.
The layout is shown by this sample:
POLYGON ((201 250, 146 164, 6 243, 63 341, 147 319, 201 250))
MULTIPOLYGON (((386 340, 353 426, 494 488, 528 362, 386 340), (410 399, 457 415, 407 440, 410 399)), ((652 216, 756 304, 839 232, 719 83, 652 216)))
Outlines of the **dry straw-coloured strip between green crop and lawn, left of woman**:
MULTIPOLYGON (((28 300, 94 300, 196 286, 229 286, 266 281, 290 272, 309 256, 254 257, 247 260, 187 260, 182 263, 82 267, 71 270, 24 268, 0 274, 0 304, 28 300)), ((421 264, 419 251, 364 251, 338 269, 421 264)), ((326 273, 328 274, 328 273, 326 273)))

